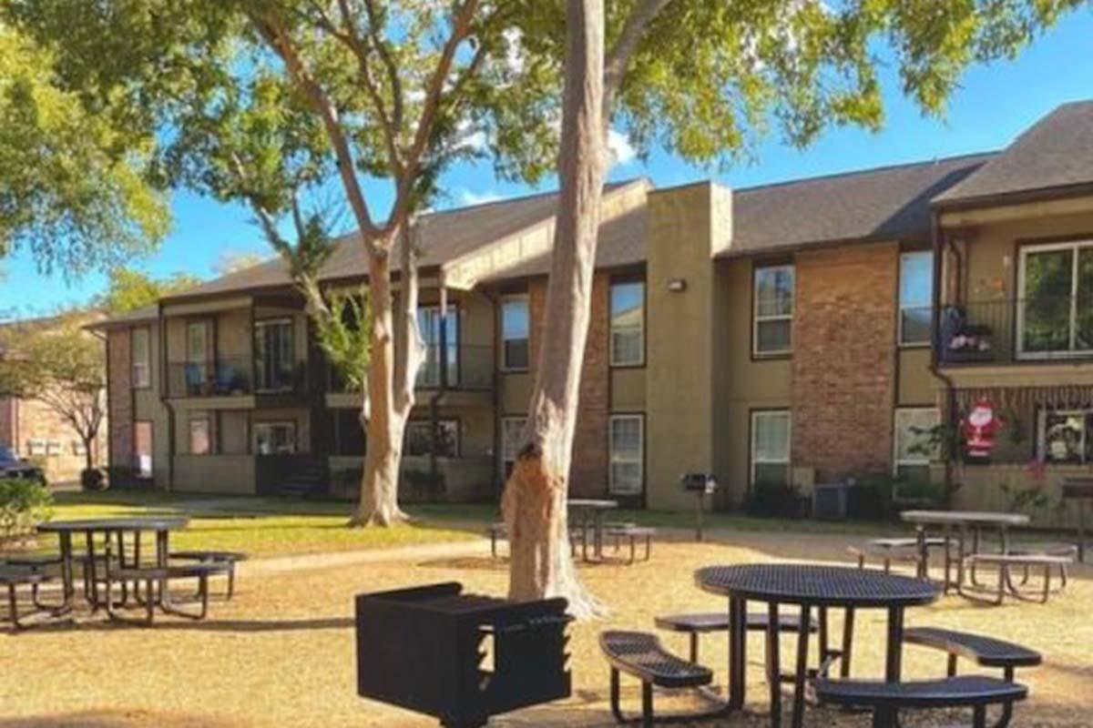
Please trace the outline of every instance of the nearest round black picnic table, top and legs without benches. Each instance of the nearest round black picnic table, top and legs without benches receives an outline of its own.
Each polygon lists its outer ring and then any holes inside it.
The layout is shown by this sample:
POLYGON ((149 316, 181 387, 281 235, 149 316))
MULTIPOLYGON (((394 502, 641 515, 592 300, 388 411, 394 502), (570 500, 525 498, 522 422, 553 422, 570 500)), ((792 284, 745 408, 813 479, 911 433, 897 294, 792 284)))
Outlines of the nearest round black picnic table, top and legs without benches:
POLYGON ((775 728, 781 725, 781 668, 778 657, 778 609, 781 605, 800 609, 791 719, 792 727, 800 728, 804 719, 809 624, 813 609, 818 612, 820 623, 821 669, 826 669, 830 661, 837 657, 843 677, 849 677, 850 671, 855 610, 886 610, 888 658, 884 679, 897 682, 903 655, 904 610, 928 605, 938 598, 938 589, 928 582, 845 566, 786 563, 706 566, 696 571, 694 576, 695 583, 703 590, 729 598, 728 711, 739 709, 744 704, 748 602, 766 604, 766 673, 771 689, 771 725, 775 728), (842 651, 833 651, 827 645, 828 608, 841 608, 846 612, 842 651))

